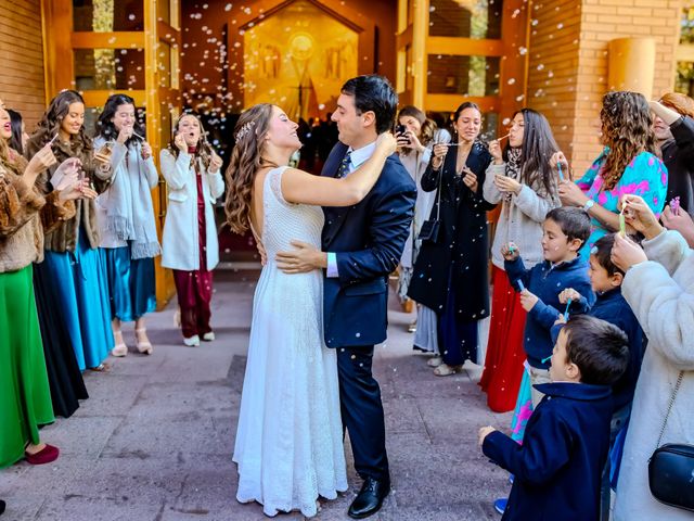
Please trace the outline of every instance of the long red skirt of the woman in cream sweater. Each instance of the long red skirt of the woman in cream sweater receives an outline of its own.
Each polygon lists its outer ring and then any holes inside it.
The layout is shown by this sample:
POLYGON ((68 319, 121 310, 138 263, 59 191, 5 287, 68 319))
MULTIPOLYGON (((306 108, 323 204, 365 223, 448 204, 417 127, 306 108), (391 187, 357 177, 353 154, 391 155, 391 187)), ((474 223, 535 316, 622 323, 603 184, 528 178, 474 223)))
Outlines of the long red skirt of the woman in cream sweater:
POLYGON ((491 410, 507 412, 516 404, 523 379, 526 313, 503 269, 494 266, 492 280, 489 343, 479 385, 487 393, 487 405, 491 410))

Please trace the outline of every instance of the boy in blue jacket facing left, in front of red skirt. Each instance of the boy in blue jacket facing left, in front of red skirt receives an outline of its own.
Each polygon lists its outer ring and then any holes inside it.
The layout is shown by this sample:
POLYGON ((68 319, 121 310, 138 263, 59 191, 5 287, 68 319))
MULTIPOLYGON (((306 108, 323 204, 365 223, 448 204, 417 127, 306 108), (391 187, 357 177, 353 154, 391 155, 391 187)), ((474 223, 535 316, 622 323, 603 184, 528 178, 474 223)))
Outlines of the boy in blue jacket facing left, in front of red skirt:
POLYGON ((530 365, 534 407, 542 398, 535 385, 550 381, 549 359, 554 345, 550 331, 561 315, 560 293, 574 288, 586 295, 589 305, 594 302, 588 263, 578 255, 590 236, 588 214, 581 208, 554 208, 547 214, 542 230, 544 262, 531 269, 525 268, 515 244, 501 249, 509 280, 520 290, 520 304, 528 312, 523 347, 530 365))

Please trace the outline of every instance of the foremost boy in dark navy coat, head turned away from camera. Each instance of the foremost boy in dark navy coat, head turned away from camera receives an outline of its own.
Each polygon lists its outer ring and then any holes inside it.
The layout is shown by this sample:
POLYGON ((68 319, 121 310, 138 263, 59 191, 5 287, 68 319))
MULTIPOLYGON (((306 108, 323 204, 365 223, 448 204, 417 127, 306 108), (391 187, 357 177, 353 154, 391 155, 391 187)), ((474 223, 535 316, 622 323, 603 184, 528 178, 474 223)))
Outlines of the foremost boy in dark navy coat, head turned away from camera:
POLYGON ((573 317, 552 354, 552 383, 526 427, 523 445, 492 427, 484 454, 515 475, 502 521, 594 521, 609 447, 611 385, 626 370, 627 336, 593 317, 573 317))

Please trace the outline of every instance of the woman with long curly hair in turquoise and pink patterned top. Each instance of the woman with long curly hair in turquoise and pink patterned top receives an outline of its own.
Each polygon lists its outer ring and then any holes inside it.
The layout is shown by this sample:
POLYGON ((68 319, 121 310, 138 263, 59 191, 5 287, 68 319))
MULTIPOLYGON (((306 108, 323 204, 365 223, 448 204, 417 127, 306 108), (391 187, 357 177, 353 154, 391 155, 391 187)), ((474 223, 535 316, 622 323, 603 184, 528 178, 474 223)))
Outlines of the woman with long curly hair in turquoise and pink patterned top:
MULTIPOLYGON (((580 250, 583 258, 597 239, 619 230, 618 204, 624 195, 640 195, 659 215, 668 189, 668 170, 659 158, 646 99, 638 92, 607 92, 600 119, 603 152, 576 183, 568 176, 560 182, 562 203, 582 207, 592 219, 593 231, 580 250)), ((557 161, 568 171, 566 157, 557 161)))

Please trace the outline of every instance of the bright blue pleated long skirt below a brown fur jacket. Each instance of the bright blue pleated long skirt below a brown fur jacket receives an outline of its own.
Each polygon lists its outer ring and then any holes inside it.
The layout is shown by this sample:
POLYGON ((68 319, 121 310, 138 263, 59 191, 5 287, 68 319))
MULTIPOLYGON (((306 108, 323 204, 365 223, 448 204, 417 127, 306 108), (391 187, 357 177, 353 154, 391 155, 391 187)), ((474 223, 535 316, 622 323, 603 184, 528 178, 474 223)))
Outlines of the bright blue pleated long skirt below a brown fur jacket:
POLYGON ((98 367, 114 346, 103 252, 80 237, 75 253, 47 251, 43 265, 52 298, 60 303, 55 314, 67 328, 79 369, 98 367))

